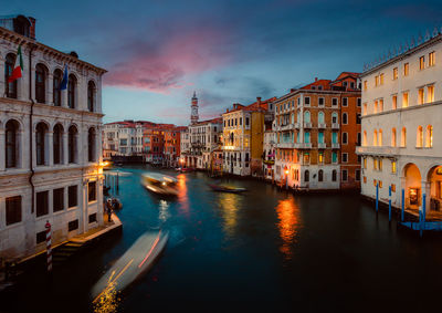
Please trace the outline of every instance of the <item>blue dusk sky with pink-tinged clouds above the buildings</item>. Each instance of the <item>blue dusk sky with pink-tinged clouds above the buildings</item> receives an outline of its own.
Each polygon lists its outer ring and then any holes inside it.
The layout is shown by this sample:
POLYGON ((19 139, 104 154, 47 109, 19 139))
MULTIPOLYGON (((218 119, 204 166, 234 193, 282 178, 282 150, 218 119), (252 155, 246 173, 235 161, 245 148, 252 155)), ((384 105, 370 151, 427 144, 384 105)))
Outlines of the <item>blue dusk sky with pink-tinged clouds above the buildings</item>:
POLYGON ((36 40, 108 72, 104 123, 188 125, 233 103, 364 64, 442 28, 439 1, 379 0, 8 0, 0 14, 36 19, 36 40), (75 4, 72 4, 75 3, 75 4))

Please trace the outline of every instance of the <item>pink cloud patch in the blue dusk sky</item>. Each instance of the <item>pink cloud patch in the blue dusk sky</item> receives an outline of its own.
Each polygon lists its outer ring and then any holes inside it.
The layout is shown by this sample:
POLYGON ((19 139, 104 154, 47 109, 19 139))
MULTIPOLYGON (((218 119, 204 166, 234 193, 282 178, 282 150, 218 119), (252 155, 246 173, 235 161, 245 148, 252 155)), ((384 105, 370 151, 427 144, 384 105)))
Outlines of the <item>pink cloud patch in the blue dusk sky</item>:
POLYGON ((131 51, 125 53, 127 59, 108 69, 104 83, 167 93, 190 85, 183 80, 186 75, 215 69, 231 60, 225 31, 206 28, 161 35, 157 41, 128 44, 131 51))

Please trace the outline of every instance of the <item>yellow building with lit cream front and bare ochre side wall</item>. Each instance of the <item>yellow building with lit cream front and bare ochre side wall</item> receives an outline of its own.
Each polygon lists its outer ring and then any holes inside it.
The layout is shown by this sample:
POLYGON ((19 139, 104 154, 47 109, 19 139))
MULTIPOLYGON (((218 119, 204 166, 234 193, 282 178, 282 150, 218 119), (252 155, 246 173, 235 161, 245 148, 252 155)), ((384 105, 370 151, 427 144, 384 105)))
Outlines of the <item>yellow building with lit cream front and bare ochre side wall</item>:
POLYGON ((222 115, 223 170, 240 176, 261 176, 264 140, 264 119, 272 112, 269 98, 244 106, 233 104, 222 115))

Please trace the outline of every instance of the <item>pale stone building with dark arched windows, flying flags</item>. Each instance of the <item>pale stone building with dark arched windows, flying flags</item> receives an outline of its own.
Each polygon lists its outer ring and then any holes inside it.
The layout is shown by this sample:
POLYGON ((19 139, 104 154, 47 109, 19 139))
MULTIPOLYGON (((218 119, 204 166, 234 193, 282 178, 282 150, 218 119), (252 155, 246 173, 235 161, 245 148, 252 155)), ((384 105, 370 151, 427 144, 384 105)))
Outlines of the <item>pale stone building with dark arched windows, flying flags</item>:
POLYGON ((103 223, 102 75, 34 39, 35 20, 0 20, 0 72, 19 44, 22 77, 0 75, 0 259, 22 258, 103 223), (60 91, 64 66, 67 90, 60 91))

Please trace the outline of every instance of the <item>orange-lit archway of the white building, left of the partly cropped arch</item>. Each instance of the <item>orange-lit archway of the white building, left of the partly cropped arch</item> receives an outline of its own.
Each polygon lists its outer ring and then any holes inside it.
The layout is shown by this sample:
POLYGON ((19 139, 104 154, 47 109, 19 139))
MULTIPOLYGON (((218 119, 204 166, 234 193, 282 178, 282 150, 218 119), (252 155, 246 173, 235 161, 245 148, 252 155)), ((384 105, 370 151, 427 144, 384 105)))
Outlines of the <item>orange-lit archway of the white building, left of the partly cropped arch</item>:
POLYGON ((406 208, 419 210, 422 205, 421 173, 415 164, 409 163, 403 167, 402 174, 406 179, 406 208))

